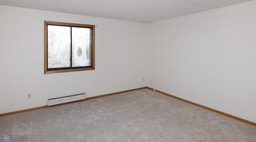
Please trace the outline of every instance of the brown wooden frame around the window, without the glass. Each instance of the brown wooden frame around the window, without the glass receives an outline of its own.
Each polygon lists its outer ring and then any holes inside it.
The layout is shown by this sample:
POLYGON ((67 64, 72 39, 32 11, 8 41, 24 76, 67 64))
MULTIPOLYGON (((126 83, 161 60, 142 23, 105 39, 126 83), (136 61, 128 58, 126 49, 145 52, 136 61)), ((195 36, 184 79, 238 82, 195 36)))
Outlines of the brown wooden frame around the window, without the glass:
POLYGON ((44 21, 44 74, 65 73, 65 72, 72 72, 72 71, 87 71, 87 70, 94 70, 94 69, 95 69, 95 25, 44 21), (60 70, 49 71, 48 70, 48 36, 47 36, 48 24, 56 25, 56 26, 75 26, 75 27, 92 28, 92 47, 91 47, 92 66, 78 68, 78 69, 60 69, 60 70))

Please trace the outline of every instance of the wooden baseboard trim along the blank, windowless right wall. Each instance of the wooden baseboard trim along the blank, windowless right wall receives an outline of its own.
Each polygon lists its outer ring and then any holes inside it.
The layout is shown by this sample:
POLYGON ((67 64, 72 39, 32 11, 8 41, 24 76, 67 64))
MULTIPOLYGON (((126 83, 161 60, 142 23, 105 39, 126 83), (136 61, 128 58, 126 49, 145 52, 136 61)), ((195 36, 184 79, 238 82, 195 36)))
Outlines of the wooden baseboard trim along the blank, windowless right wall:
MULTIPOLYGON (((150 87, 146 87, 146 88, 147 88, 147 89, 150 89, 150 90, 154 90, 154 89, 152 89, 152 88, 150 88, 150 87)), ((205 106, 203 106, 203 105, 200 105, 200 104, 197 104, 197 103, 193 103, 193 102, 191 102, 191 101, 188 101, 188 100, 185 100, 185 99, 182 99, 182 98, 179 98, 179 97, 176 97, 176 96, 173 96, 173 95, 164 93, 164 92, 159 91, 159 90, 156 90, 156 92, 159 92, 159 93, 162 93, 162 94, 164 94, 164 95, 173 97, 173 98, 178 99, 178 100, 180 100, 180 101, 184 101, 184 102, 186 102, 186 103, 190 103, 190 104, 195 105, 195 106, 197 106, 197 107, 201 107, 201 108, 204 108, 204 109, 207 109, 207 110, 216 112, 216 113, 218 113, 218 114, 222 114, 222 115, 224 115, 224 116, 227 116, 227 117, 230 117, 230 118, 233 118, 233 119, 236 119, 236 120, 245 122, 245 123, 247 123, 247 124, 251 124, 251 125, 253 125, 253 126, 256 126, 256 123, 254 123, 254 122, 251 122, 251 121, 248 121, 248 120, 245 120, 245 119, 242 119, 242 118, 239 118, 239 117, 236 117, 236 116, 227 114, 227 113, 225 113, 225 112, 221 112, 221 111, 219 111, 219 110, 215 110, 215 109, 212 109, 212 108, 209 108, 209 107, 205 107, 205 106)))

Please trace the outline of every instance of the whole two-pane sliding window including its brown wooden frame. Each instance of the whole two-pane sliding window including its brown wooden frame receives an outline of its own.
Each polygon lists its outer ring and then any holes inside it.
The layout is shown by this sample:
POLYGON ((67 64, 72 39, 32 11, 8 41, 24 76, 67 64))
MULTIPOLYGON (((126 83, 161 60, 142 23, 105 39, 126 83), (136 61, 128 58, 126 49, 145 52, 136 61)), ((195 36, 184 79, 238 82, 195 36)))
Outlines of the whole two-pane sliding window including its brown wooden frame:
POLYGON ((95 69, 95 26, 44 21, 44 74, 95 69))

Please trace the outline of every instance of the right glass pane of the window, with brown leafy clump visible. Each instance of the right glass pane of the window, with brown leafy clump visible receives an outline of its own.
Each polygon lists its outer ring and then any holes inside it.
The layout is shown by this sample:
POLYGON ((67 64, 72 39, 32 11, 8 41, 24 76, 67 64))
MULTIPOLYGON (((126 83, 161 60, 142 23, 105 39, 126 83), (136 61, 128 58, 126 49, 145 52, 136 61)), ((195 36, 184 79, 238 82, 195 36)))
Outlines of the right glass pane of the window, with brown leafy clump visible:
POLYGON ((91 66, 90 28, 72 27, 72 67, 91 66))

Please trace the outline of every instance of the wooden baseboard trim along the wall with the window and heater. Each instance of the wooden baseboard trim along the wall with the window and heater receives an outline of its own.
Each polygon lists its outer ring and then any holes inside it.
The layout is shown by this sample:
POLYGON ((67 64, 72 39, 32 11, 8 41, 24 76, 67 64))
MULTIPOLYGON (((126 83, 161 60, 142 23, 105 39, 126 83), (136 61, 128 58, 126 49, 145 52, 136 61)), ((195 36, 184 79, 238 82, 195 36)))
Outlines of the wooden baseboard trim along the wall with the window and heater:
MULTIPOLYGON (((68 102, 68 103, 86 101, 86 100, 90 100, 90 99, 96 99, 96 98, 106 97, 106 96, 110 96, 110 95, 116 95, 116 94, 120 94, 120 93, 125 93, 125 92, 140 90, 140 89, 146 89, 146 88, 147 87, 141 87, 141 88, 126 90, 126 91, 120 91, 120 92, 116 92, 116 93, 110 93, 110 94, 105 94, 105 95, 100 95, 100 96, 95 96, 95 97, 89 97, 89 98, 86 98, 86 99, 83 99, 83 100, 73 101, 73 102, 68 102)), ((58 104, 58 105, 64 105, 64 104, 68 104, 68 103, 63 103, 63 104, 58 104)), ((53 105, 53 106, 58 106, 58 105, 53 105)), ((27 111, 42 109, 42 108, 53 107, 53 106, 42 106, 42 107, 28 108, 28 109, 24 109, 24 110, 13 111, 13 112, 7 112, 7 113, 0 114, 0 117, 1 116, 6 116, 6 115, 11 115, 11 114, 16 114, 16 113, 21 113, 21 112, 27 112, 27 111)))

